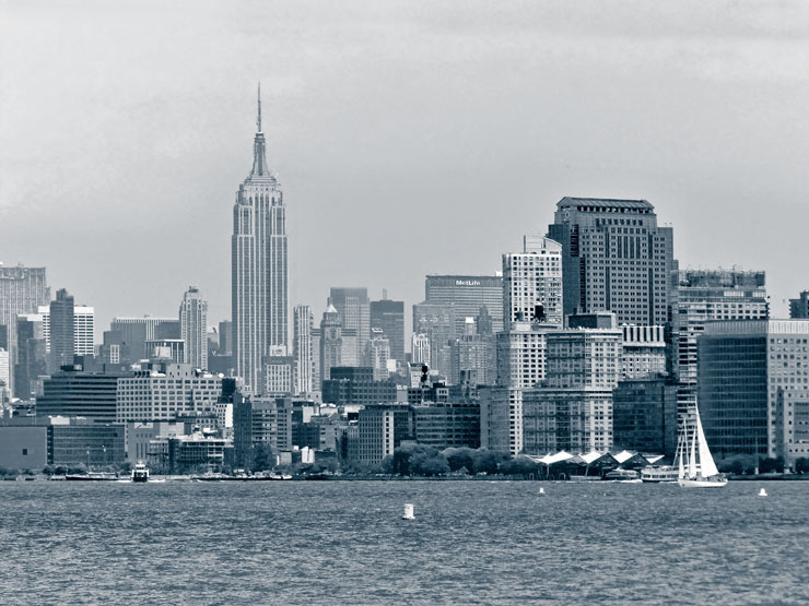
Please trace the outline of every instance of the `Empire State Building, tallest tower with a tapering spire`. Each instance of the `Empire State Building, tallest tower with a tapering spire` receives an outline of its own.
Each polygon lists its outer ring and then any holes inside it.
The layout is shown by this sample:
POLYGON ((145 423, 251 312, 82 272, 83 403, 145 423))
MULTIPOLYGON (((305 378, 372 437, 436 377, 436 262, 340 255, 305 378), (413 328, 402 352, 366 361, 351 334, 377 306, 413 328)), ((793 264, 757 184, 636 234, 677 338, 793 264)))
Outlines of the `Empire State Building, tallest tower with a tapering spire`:
POLYGON ((283 192, 267 167, 261 132, 261 87, 253 142, 253 170, 233 206, 232 310, 236 372, 261 393, 265 357, 288 348, 288 261, 283 192))

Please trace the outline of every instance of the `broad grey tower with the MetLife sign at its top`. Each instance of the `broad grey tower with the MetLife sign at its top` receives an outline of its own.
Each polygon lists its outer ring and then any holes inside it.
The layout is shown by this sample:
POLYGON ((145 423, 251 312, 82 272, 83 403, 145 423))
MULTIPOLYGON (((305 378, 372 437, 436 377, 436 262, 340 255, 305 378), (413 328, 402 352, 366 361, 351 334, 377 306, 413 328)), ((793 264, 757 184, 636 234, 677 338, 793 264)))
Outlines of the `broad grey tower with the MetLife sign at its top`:
POLYGON ((467 316, 477 316, 484 306, 492 316, 493 331, 503 330, 503 276, 427 275, 424 280, 424 302, 453 306, 455 331, 447 340, 464 334, 467 316))

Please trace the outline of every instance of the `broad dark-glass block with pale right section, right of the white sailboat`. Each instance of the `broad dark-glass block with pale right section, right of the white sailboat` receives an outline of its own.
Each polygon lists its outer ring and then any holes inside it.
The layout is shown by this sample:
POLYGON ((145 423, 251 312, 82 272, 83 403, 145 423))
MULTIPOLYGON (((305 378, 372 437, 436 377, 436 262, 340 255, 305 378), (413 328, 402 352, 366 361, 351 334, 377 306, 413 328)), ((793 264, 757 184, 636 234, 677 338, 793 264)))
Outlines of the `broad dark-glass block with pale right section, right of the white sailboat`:
POLYGON ((809 320, 708 322, 697 361, 714 456, 809 456, 809 320))

